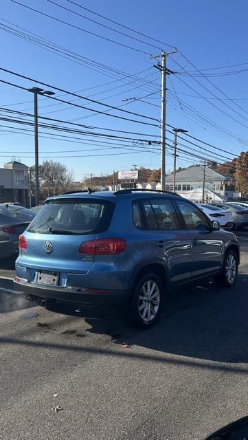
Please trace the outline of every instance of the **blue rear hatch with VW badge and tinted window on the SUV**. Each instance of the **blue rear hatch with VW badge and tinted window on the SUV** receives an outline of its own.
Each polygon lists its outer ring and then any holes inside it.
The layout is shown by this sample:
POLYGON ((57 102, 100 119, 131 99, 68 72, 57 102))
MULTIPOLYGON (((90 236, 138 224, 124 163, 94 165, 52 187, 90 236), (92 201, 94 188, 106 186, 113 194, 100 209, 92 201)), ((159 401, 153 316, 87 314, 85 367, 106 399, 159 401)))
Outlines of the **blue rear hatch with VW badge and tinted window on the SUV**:
POLYGON ((87 197, 47 201, 21 236, 18 264, 27 268, 27 278, 35 281, 39 272, 54 272, 63 285, 68 273, 87 274, 95 255, 80 252, 80 245, 109 228, 114 206, 87 197))

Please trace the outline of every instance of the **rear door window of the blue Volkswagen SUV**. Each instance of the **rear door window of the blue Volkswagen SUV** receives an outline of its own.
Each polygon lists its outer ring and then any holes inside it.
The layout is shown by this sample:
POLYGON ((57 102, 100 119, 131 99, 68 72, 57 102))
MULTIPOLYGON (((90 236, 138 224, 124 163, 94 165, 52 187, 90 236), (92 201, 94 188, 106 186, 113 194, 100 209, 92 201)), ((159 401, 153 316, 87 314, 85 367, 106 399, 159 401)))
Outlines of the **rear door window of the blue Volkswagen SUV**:
POLYGON ((168 199, 151 199, 155 218, 161 230, 178 229, 177 214, 168 199))

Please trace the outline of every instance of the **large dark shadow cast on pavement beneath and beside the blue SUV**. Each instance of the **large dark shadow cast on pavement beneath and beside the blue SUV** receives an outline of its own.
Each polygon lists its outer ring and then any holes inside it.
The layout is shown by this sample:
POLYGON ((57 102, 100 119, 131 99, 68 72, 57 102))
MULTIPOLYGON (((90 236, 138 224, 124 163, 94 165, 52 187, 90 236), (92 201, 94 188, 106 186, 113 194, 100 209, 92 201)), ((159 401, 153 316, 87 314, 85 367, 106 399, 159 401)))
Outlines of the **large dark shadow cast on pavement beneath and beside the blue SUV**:
POLYGON ((61 306, 57 311, 81 316, 91 326, 89 333, 109 335, 113 344, 198 360, 247 363, 247 281, 248 275, 239 274, 232 288, 219 289, 210 282, 171 292, 159 321, 148 330, 133 329, 116 309, 61 306))

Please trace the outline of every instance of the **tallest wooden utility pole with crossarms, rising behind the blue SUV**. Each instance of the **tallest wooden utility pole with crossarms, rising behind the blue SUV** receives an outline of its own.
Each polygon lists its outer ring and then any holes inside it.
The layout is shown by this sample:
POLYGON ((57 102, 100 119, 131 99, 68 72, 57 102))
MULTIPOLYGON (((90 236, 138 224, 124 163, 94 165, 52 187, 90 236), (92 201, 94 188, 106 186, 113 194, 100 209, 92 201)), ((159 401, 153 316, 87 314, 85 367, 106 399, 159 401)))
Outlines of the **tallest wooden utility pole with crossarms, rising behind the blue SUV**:
POLYGON ((177 52, 175 49, 173 52, 164 52, 159 55, 152 55, 152 58, 161 58, 161 64, 154 65, 156 69, 161 72, 161 128, 160 128, 160 179, 161 190, 166 189, 166 75, 174 74, 172 70, 166 67, 166 56, 177 52))

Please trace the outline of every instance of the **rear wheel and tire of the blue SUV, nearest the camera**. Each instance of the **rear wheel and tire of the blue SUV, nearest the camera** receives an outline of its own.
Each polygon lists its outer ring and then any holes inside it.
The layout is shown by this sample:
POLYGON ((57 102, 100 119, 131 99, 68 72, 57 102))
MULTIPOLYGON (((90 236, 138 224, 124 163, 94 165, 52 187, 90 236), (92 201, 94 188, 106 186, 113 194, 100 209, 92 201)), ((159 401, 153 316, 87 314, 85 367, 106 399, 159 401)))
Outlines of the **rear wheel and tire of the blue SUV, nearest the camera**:
POLYGON ((133 325, 142 329, 149 329, 155 325, 161 313, 163 300, 164 288, 160 278, 153 273, 140 276, 133 287, 129 310, 133 325))

